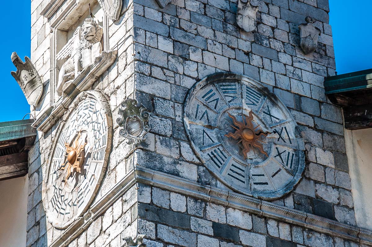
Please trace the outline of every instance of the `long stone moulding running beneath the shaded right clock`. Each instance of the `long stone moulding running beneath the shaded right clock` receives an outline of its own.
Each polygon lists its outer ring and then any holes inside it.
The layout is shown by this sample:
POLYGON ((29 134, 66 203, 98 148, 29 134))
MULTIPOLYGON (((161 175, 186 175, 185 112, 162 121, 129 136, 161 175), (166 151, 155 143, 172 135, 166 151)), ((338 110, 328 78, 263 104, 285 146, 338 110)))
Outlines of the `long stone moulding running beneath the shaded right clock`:
POLYGON ((162 189, 182 193, 231 208, 241 209, 268 218, 278 219, 283 222, 329 234, 333 237, 362 243, 366 246, 372 246, 372 231, 370 230, 353 227, 256 198, 250 198, 228 190, 199 185, 182 177, 150 170, 145 167, 137 166, 136 173, 137 182, 140 183, 157 186, 162 189))

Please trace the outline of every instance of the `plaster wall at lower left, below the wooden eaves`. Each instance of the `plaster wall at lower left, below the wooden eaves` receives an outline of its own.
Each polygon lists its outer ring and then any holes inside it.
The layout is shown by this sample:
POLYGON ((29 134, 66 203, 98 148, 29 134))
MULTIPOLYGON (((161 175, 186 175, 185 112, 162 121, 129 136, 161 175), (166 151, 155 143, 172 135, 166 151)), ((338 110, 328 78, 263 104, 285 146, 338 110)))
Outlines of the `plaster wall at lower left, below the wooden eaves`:
POLYGON ((28 176, 0 181, 0 246, 26 246, 28 176))

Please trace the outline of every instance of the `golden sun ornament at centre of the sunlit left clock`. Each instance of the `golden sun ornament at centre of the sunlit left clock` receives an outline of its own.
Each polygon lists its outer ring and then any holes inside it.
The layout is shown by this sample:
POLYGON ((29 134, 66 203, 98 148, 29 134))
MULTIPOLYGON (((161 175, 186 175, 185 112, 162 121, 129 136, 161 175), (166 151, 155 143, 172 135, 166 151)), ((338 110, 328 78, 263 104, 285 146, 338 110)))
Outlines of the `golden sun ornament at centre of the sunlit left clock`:
POLYGON ((65 183, 67 182, 67 178, 71 174, 71 167, 73 168, 73 171, 74 171, 74 169, 76 169, 76 172, 81 173, 80 161, 78 161, 78 159, 81 158, 80 153, 81 153, 81 151, 84 150, 85 146, 87 145, 87 142, 85 142, 84 144, 81 144, 79 146, 80 136, 81 136, 81 131, 79 131, 79 134, 77 135, 77 138, 76 138, 76 140, 74 141, 74 143, 71 147, 67 142, 65 142, 66 153, 67 153, 67 155, 65 155, 65 157, 67 157, 67 161, 65 162, 65 164, 63 166, 61 166, 60 169, 58 169, 58 170, 65 170, 67 168, 65 183))

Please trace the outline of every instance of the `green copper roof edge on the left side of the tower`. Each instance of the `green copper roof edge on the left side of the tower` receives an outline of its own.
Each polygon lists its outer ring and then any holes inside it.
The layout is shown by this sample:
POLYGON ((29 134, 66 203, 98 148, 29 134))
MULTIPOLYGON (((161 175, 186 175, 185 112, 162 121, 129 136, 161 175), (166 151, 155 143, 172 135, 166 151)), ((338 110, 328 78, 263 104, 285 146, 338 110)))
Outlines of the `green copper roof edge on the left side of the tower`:
POLYGON ((36 135, 36 129, 31 126, 33 119, 0 122, 0 141, 10 141, 36 135))

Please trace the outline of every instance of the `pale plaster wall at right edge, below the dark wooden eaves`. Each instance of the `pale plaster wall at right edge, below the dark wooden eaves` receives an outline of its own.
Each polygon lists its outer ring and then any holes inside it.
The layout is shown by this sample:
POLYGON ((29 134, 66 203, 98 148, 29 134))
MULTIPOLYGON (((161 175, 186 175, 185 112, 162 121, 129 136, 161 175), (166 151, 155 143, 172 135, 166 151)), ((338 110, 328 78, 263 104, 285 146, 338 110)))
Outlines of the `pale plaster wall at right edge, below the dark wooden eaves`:
POLYGON ((372 230, 372 129, 346 130, 345 141, 356 222, 372 230))

